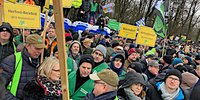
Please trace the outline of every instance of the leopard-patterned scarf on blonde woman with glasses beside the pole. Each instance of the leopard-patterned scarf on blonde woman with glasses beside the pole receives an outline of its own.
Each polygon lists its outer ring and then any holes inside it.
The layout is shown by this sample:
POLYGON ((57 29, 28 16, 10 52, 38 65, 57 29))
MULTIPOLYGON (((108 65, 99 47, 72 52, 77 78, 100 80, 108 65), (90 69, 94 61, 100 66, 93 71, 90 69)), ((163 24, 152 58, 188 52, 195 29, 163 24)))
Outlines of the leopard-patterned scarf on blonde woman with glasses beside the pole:
POLYGON ((47 77, 38 76, 37 81, 44 89, 45 95, 50 97, 61 96, 61 81, 51 82, 47 77))

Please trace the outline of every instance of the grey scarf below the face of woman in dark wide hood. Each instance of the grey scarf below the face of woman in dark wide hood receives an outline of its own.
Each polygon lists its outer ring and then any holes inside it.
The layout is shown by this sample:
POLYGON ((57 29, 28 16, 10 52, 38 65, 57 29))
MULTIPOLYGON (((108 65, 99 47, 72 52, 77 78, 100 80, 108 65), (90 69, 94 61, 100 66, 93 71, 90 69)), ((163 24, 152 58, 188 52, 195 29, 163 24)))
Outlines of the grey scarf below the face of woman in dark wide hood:
POLYGON ((124 88, 124 92, 128 96, 129 100, 142 100, 140 97, 136 96, 130 88, 124 88))

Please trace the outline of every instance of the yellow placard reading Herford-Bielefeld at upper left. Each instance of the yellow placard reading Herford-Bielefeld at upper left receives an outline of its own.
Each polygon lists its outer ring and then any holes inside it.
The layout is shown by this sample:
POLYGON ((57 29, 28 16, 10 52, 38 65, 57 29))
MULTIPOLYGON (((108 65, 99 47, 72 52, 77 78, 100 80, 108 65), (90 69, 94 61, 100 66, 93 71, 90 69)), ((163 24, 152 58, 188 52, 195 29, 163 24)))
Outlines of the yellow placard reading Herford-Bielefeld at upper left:
POLYGON ((4 21, 14 28, 40 29, 40 7, 4 2, 4 21))

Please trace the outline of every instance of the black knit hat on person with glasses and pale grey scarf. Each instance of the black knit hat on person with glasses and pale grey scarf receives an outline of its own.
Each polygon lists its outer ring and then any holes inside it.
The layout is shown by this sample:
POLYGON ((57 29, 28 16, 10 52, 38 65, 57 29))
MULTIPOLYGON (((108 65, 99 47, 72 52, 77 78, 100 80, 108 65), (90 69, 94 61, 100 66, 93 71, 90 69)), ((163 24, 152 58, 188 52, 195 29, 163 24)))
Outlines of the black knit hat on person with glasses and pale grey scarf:
POLYGON ((177 69, 170 69, 167 73, 166 73, 166 76, 165 76, 165 81, 166 79, 170 76, 170 75, 174 75, 176 77, 179 78, 179 81, 180 81, 180 84, 182 82, 182 75, 181 75, 181 72, 177 69))

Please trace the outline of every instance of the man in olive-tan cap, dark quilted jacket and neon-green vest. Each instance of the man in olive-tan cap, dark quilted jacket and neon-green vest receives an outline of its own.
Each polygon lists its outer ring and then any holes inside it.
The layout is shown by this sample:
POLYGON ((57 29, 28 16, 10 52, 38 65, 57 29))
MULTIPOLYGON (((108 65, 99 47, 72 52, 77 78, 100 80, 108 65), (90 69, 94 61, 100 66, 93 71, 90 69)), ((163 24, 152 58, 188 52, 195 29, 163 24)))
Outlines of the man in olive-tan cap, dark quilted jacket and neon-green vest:
POLYGON ((22 52, 12 54, 2 61, 0 66, 3 72, 0 76, 6 80, 6 99, 21 99, 24 86, 35 77, 43 48, 45 43, 41 36, 31 34, 26 38, 26 46, 22 52))

